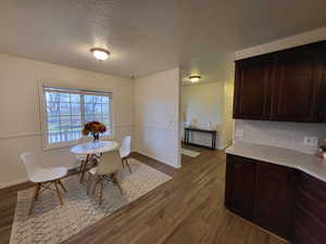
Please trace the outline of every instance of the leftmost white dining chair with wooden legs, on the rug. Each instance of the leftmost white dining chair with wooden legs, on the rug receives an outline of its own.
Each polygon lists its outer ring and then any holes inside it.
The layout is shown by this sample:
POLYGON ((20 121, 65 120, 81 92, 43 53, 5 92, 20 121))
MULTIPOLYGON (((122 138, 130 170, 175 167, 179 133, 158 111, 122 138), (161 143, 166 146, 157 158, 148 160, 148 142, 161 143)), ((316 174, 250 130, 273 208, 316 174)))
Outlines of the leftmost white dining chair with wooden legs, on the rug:
POLYGON ((59 185, 62 188, 64 192, 66 192, 65 188, 61 182, 61 179, 66 176, 67 168, 65 167, 42 168, 37 165, 36 157, 30 152, 22 153, 21 159, 26 167, 28 179, 32 182, 37 183, 28 214, 29 215, 32 214, 35 202, 38 200, 41 190, 43 191, 48 189, 48 190, 55 191, 61 205, 63 205, 62 196, 59 191, 59 185), (50 188, 51 184, 54 184, 54 189, 50 188))

